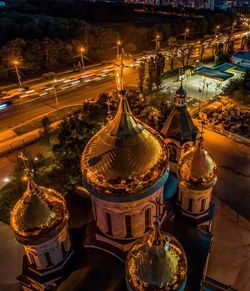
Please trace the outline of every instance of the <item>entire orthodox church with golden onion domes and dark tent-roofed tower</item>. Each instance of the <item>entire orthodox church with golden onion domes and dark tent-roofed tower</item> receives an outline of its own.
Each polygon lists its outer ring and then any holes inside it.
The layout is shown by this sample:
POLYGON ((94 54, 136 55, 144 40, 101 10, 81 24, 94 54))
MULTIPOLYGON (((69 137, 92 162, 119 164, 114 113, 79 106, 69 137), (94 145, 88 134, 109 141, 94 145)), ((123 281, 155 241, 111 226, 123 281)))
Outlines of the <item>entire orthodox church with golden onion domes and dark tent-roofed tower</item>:
POLYGON ((92 205, 84 230, 68 228, 62 195, 36 185, 25 170, 27 190, 11 213, 25 250, 23 290, 198 291, 212 284, 206 268, 216 164, 188 114, 182 85, 160 134, 131 112, 123 67, 121 59, 116 115, 82 153, 92 205), (178 188, 171 187, 170 171, 178 188))

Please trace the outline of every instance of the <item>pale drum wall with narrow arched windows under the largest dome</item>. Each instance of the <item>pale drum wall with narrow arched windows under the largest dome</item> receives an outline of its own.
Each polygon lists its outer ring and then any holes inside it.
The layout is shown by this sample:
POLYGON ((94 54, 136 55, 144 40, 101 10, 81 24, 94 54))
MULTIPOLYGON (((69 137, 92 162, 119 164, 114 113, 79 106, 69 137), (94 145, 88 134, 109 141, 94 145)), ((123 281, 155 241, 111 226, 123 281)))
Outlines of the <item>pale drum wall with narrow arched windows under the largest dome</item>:
POLYGON ((163 206, 156 205, 158 199, 160 203, 163 203, 163 186, 150 196, 132 202, 104 201, 94 196, 91 196, 91 199, 93 209, 95 209, 94 216, 97 227, 106 235, 117 239, 143 236, 146 224, 151 226, 156 215, 162 216, 163 214, 163 206), (148 210, 146 222, 145 212, 147 209, 150 210, 148 210), (126 216, 131 219, 129 223, 126 221, 126 216), (130 226, 126 227, 127 224, 131 225, 131 236, 128 236, 130 226))

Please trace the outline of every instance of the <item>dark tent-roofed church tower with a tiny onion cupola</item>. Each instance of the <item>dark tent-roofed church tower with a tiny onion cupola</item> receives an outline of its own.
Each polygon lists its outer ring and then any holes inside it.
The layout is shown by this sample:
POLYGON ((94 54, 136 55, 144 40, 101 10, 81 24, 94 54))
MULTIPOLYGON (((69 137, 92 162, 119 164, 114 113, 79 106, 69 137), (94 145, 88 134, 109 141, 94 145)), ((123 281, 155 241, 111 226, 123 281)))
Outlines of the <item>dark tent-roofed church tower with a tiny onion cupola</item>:
POLYGON ((176 91, 175 105, 161 130, 169 150, 170 171, 175 175, 178 172, 178 162, 194 145, 198 134, 198 129, 187 110, 186 96, 187 92, 181 83, 176 91))

